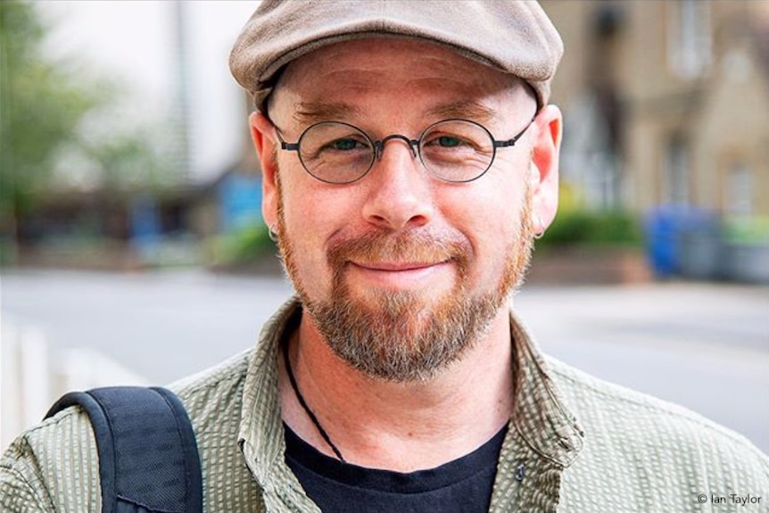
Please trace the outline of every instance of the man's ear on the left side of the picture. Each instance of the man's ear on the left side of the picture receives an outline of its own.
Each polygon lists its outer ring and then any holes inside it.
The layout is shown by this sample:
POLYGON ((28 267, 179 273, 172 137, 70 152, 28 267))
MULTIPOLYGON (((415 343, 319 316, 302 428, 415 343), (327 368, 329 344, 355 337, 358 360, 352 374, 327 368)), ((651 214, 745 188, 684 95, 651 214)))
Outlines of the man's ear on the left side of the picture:
POLYGON ((252 112, 248 118, 253 147, 261 166, 261 215, 268 227, 277 226, 277 162, 275 127, 261 112, 252 112))

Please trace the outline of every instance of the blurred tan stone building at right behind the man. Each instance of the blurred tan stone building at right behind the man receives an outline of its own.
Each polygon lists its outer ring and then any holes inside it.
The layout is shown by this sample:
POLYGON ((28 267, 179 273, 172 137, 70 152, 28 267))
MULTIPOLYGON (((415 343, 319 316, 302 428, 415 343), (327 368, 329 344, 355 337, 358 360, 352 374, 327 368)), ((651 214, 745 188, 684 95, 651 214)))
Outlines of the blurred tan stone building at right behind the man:
POLYGON ((562 176, 588 207, 769 214, 769 3, 542 0, 562 176))

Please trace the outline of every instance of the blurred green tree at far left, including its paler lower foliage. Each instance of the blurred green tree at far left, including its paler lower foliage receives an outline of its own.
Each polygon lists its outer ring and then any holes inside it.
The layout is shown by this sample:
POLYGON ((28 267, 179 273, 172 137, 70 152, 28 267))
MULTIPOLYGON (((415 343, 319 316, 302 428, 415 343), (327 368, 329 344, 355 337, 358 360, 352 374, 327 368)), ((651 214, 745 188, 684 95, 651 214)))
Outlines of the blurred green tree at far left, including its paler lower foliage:
POLYGON ((161 151, 170 129, 126 123, 115 112, 116 81, 46 57, 48 29, 35 4, 0 0, 0 261, 62 177, 67 185, 85 172, 87 186, 124 194, 170 186, 174 176, 161 151))

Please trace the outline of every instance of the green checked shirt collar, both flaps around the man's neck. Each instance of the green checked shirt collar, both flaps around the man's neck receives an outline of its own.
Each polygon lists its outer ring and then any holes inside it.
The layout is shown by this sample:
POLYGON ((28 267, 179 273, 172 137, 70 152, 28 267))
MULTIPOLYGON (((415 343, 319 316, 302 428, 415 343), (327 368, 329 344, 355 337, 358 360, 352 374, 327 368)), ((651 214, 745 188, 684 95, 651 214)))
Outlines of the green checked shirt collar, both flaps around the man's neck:
MULTIPOLYGON (((246 464, 266 495, 288 484, 301 492, 301 485, 285 464, 285 438, 277 390, 277 357, 280 341, 290 319, 301 304, 293 297, 261 330, 259 343, 249 364, 238 443, 246 464)), ((550 378, 533 337, 515 314, 510 313, 516 358, 512 369, 517 378, 517 399, 508 437, 520 436, 529 448, 556 467, 568 467, 583 445, 583 430, 566 409, 550 378)), ((303 493, 300 493, 303 495, 303 493)))

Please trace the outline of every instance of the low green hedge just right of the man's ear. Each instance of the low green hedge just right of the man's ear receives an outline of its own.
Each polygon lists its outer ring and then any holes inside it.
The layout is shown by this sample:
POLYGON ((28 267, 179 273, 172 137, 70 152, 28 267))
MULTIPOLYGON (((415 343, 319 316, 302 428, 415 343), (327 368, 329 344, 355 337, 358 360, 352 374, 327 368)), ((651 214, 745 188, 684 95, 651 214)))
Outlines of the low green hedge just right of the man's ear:
POLYGON ((639 219, 625 211, 567 210, 558 216, 545 232, 537 247, 566 245, 641 244, 639 219))

